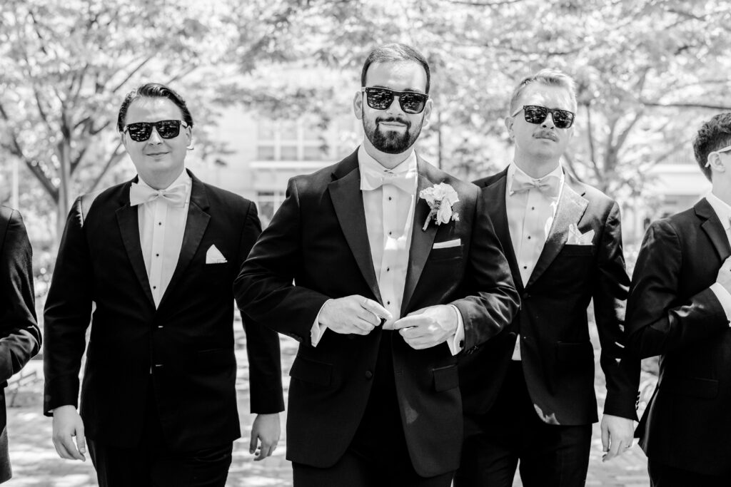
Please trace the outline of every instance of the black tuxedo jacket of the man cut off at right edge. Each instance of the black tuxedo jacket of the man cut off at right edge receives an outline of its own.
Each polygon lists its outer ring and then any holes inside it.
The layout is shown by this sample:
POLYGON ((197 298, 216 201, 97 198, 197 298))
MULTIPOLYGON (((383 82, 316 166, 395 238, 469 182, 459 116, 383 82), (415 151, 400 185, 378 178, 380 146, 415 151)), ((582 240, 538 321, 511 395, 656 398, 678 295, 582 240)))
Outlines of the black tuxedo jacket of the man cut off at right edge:
POLYGON ((636 436, 648 457, 702 472, 731 465, 731 331, 709 288, 731 255, 705 199, 651 224, 627 305, 629 348, 661 356, 660 377, 636 436))

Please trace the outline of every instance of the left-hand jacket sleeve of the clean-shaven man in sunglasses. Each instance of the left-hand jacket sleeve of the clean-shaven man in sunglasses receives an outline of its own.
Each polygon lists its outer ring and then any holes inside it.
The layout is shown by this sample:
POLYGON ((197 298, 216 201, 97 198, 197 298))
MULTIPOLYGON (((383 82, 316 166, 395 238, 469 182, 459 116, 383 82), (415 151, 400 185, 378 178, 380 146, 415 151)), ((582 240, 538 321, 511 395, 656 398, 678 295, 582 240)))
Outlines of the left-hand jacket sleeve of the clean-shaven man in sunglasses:
POLYGON ((94 275, 79 198, 66 221, 43 313, 45 415, 52 415, 49 411, 59 406, 77 406, 81 356, 86 348, 93 288, 94 275))

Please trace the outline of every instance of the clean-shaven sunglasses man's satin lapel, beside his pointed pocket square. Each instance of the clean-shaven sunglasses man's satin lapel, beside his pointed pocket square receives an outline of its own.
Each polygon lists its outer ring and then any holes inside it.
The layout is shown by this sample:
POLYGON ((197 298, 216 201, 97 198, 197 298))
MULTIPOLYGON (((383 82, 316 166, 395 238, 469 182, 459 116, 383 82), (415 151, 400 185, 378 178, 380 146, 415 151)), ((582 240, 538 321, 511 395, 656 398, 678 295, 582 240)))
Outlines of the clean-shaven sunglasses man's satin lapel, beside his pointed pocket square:
POLYGON ((203 239, 205 229, 208 228, 208 221, 211 220, 211 215, 208 214, 208 196, 205 195, 205 186, 201 181, 189 174, 193 180, 193 187, 190 192, 190 204, 188 205, 188 218, 185 223, 185 233, 183 233, 183 245, 181 245, 181 253, 178 256, 178 264, 175 265, 175 271, 173 271, 173 277, 170 277, 170 283, 167 285, 162 298, 160 299, 160 305, 158 309, 162 308, 162 305, 167 301, 168 296, 175 290, 177 285, 189 264, 193 260, 200 241, 203 239))

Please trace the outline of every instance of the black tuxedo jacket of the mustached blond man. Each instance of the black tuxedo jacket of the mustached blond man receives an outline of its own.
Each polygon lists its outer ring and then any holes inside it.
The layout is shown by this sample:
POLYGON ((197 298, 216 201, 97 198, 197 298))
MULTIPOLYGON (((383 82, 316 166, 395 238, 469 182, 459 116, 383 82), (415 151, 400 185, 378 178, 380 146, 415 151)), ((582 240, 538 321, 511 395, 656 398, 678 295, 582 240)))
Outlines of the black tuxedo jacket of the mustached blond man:
POLYGON ((591 186, 567 176, 548 239, 527 283, 512 248, 505 208, 507 169, 477 180, 520 292, 518 316, 498 337, 463 356, 461 384, 466 413, 487 413, 505 378, 520 334, 526 386, 545 423, 580 425, 597 420, 594 349, 587 307, 594 318, 607 379, 605 414, 637 418, 640 361, 627 356, 623 331, 629 277, 624 269, 618 206, 591 186), (592 245, 567 245, 569 225, 594 230, 592 245))

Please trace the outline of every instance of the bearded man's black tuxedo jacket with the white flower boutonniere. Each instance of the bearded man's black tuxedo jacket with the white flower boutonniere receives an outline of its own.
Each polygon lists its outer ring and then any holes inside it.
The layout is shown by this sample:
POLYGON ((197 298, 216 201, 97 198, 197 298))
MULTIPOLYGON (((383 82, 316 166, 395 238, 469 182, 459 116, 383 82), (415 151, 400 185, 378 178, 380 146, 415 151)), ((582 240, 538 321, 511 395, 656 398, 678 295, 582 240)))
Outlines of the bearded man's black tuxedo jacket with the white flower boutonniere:
MULTIPOLYGON (((510 322, 517 294, 480 191, 418 160, 414 230, 401 315, 455 304, 465 347, 488 340, 510 322), (459 221, 422 230, 429 208, 418 193, 447 183, 460 201, 459 221), (461 239, 461 245, 433 248, 461 239)), ((352 441, 371 391, 382 329, 366 336, 327 330, 316 348, 310 331, 330 298, 358 294, 382 302, 366 231, 357 153, 289 181, 287 199, 265 229, 235 283, 244 312, 300 340, 290 371, 287 458, 330 467, 352 441), (292 285, 294 280, 294 285, 292 285)), ((438 475, 458 467, 462 416, 456 358, 446 343, 414 350, 393 337, 393 369, 409 453, 416 471, 438 475)), ((388 441, 387 438, 384 439, 388 441)))

